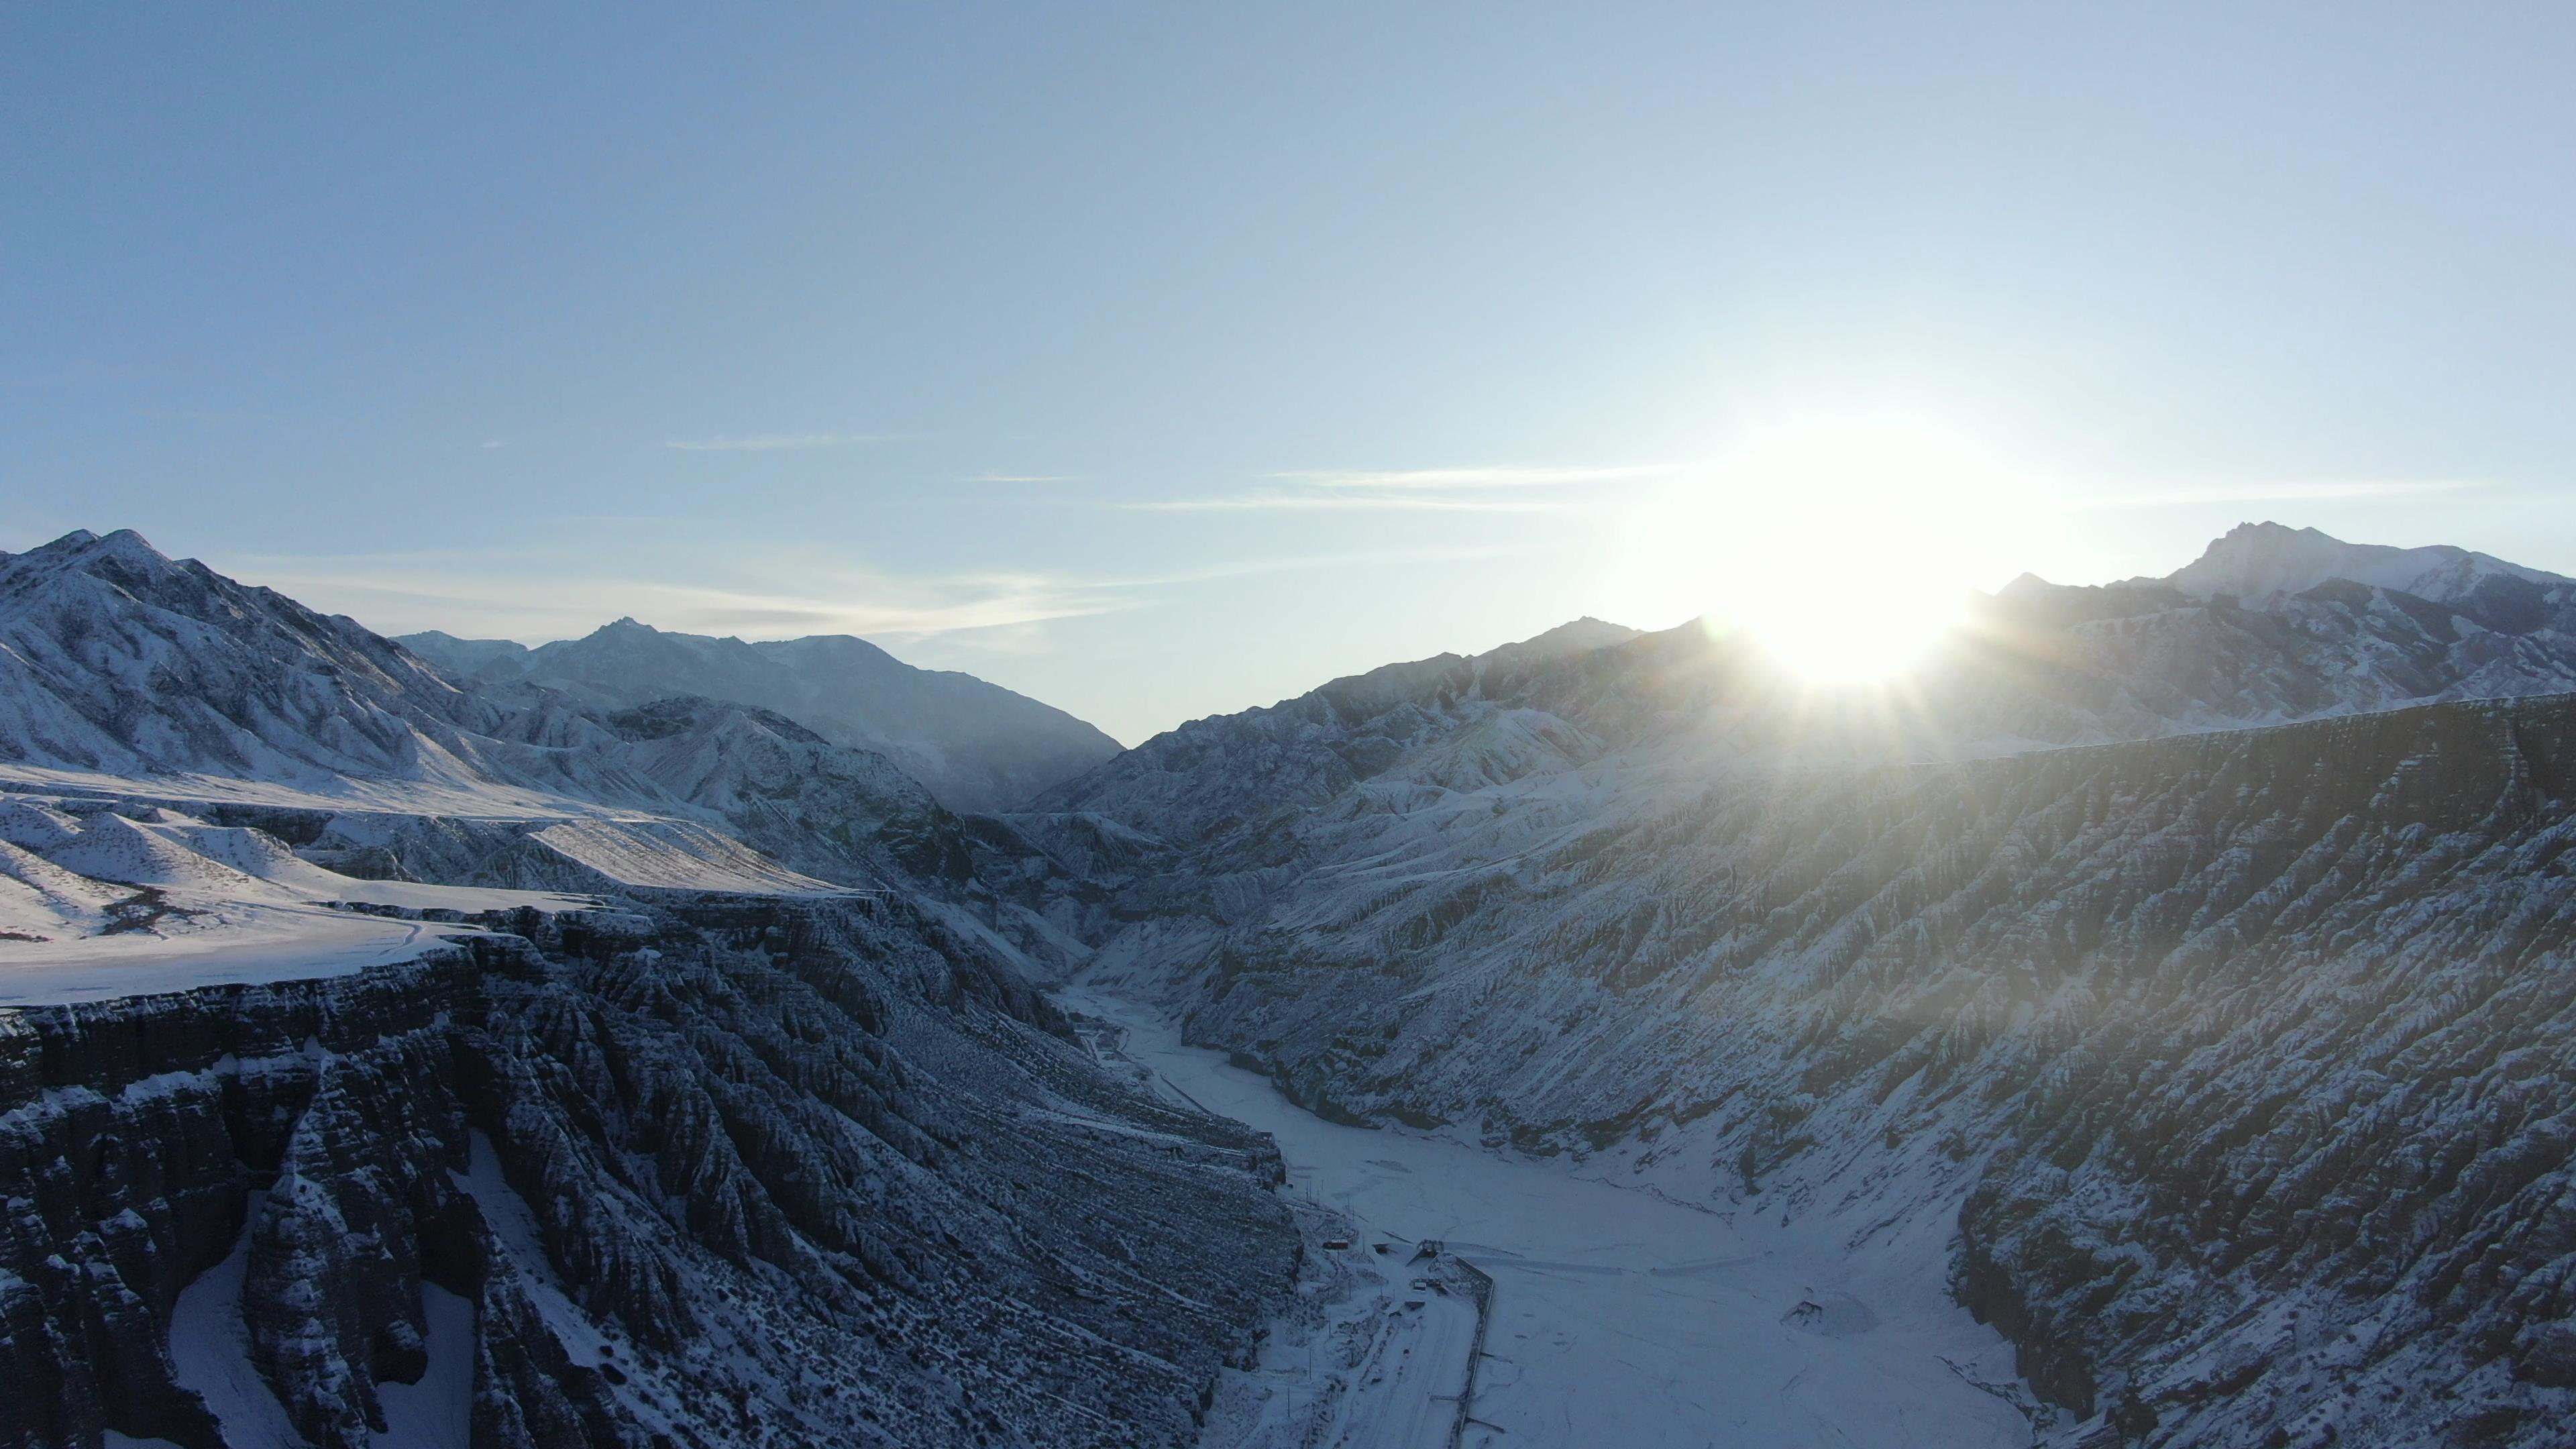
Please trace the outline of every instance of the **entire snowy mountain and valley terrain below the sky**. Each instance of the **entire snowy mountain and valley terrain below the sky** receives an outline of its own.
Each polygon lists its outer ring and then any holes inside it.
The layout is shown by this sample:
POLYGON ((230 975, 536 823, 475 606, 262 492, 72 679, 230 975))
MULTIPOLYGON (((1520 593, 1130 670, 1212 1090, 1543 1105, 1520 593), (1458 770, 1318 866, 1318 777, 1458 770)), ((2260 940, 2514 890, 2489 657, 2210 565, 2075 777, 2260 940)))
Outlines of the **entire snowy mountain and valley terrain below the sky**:
POLYGON ((0 1446, 2576 1444, 2576 580, 1133 750, 0 554, 0 1446))

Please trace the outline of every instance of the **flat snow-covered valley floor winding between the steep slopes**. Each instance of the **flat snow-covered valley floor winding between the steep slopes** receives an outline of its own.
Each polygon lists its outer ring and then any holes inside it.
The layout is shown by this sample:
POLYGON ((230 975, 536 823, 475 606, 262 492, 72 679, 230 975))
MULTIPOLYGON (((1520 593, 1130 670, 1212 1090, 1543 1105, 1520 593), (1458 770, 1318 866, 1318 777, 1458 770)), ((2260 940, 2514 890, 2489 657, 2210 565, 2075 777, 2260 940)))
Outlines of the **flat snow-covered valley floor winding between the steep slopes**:
MULTIPOLYGON (((1780 1227, 1759 1199, 1700 1212, 1566 1163, 1337 1127, 1218 1052, 1182 1047, 1149 1008, 1092 987, 1061 1003, 1126 1026, 1126 1052, 1185 1101, 1278 1137, 1288 1191, 1350 1214, 1358 1250, 1440 1238, 1492 1274, 1471 1446, 2030 1444, 2022 1413, 1963 1377, 2014 1382, 2012 1348, 1942 1294, 1940 1261, 1862 1266, 1839 1250, 1847 1225, 1780 1227)), ((1419 1343, 1466 1354, 1455 1333, 1419 1343)), ((1427 1405, 1363 1392, 1321 1441, 1445 1444, 1455 1405, 1432 1395, 1455 1395, 1466 1364, 1422 1369, 1409 1379, 1427 1405), (1399 1423, 1406 1436, 1388 1439, 1399 1423)))

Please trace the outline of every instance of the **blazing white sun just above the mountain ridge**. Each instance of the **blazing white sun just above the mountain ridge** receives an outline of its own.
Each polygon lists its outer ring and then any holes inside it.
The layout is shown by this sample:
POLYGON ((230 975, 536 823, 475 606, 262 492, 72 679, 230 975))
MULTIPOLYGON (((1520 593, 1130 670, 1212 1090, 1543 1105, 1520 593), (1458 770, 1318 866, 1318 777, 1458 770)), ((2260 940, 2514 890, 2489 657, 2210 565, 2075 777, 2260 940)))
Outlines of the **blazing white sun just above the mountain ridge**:
POLYGON ((2009 567, 2020 480, 1968 436, 1821 415, 1744 436, 1649 526, 1654 578, 1814 681, 1901 670, 2009 567))

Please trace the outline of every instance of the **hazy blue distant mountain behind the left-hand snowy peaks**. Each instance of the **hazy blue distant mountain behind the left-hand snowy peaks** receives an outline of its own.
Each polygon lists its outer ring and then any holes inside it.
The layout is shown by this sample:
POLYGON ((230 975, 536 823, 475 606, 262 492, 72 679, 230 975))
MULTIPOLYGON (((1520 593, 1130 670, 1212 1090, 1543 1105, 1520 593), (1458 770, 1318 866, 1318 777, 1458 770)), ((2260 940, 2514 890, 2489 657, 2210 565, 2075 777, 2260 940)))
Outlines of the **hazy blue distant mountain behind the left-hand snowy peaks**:
POLYGON ((770 709, 891 758, 951 810, 1010 810, 1118 753, 1061 709, 966 673, 912 668, 848 634, 747 645, 618 619, 536 650, 438 632, 399 642, 469 683, 533 681, 616 709, 675 694, 770 709))

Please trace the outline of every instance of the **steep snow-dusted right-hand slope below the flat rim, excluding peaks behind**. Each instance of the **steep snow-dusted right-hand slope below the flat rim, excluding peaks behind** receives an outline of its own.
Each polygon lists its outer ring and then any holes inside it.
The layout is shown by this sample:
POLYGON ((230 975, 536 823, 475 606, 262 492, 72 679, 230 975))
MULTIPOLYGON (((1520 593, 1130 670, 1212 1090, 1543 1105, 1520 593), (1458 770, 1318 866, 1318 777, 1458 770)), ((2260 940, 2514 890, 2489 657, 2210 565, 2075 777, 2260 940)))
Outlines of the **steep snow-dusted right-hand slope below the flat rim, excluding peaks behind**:
POLYGON ((1097 969, 1345 1119, 1958 1214, 1963 1302, 2112 1436, 2555 1444, 2571 848, 2571 699, 1602 763, 1170 853, 1097 969))

